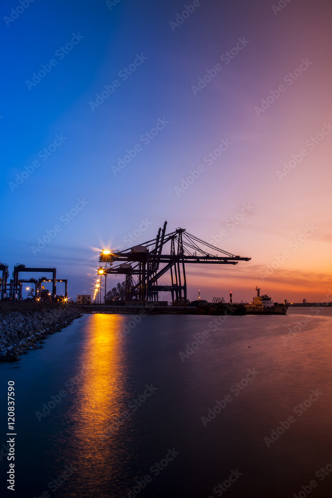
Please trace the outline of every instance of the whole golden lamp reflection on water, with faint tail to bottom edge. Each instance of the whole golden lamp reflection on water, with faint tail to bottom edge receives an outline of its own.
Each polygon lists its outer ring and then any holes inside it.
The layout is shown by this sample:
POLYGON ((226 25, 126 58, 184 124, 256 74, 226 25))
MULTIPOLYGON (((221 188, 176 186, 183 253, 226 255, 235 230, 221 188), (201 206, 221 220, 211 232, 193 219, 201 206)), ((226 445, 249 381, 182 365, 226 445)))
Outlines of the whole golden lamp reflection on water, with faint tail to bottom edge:
MULTIPOLYGON (((114 486, 118 469, 114 420, 123 412, 126 398, 126 361, 117 315, 93 314, 86 322, 84 350, 77 365, 83 372, 68 412, 72 427, 67 459, 75 461, 79 479, 68 482, 64 496, 102 496, 114 486)), ((80 374, 78 376, 80 378, 80 374)))

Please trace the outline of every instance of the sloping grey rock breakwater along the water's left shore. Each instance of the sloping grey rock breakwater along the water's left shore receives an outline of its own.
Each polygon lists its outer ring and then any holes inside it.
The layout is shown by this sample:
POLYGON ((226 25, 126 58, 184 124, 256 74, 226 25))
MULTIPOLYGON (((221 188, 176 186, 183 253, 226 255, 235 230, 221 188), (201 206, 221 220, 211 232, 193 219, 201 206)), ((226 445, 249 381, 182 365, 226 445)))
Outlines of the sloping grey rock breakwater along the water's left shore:
POLYGON ((27 350, 42 348, 42 339, 80 316, 74 307, 0 313, 0 361, 15 362, 27 350))

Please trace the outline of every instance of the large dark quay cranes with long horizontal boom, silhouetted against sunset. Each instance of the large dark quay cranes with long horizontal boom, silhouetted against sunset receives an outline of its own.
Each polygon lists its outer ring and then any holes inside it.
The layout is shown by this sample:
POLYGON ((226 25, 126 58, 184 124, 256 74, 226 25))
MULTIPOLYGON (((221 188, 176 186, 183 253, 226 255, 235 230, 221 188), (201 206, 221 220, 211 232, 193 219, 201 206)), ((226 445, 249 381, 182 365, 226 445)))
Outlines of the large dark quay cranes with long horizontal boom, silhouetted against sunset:
POLYGON ((166 226, 165 221, 155 239, 139 246, 100 253, 99 261, 105 263, 104 274, 125 276, 125 301, 158 301, 158 293, 162 291, 170 292, 173 302, 186 303, 185 264, 237 264, 238 261, 251 259, 212 246, 189 234, 184 228, 176 228, 174 232, 166 234, 166 226), (217 255, 210 253, 210 250, 217 251, 217 255), (118 262, 120 264, 113 266, 113 263, 118 262), (107 263, 110 263, 110 268, 107 268, 107 263), (170 276, 171 285, 158 285, 158 280, 166 273, 170 276))

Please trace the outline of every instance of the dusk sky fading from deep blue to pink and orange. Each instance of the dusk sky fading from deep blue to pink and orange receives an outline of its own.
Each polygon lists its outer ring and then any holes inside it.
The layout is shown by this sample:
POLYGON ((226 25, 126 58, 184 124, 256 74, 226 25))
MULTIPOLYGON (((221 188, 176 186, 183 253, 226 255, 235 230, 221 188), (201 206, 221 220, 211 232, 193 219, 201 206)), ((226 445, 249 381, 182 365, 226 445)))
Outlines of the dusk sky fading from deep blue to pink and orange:
POLYGON ((331 20, 328 0, 2 0, 0 261, 92 294, 101 249, 167 220, 251 257, 187 265, 189 299, 324 299, 331 20))

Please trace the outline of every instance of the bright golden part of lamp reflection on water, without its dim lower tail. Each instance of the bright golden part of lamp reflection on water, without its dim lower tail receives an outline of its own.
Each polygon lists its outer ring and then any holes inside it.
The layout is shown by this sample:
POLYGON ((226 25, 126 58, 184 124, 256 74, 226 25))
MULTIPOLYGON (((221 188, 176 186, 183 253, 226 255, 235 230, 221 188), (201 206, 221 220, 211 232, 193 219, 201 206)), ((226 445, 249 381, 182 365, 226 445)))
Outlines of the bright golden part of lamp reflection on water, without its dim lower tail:
POLYGON ((77 386, 75 435, 85 446, 110 441, 112 421, 123 412, 125 359, 121 349, 123 317, 93 314, 87 322, 87 342, 77 386))

